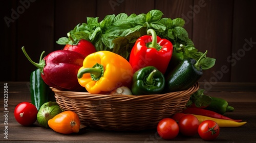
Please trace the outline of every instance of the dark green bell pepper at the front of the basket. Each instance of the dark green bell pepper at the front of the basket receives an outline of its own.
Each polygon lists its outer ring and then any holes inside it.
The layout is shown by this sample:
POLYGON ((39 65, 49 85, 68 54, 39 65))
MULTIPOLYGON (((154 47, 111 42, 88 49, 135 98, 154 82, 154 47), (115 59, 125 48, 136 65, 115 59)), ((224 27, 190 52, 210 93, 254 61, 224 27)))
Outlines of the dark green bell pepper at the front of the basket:
POLYGON ((165 85, 164 75, 154 66, 146 66, 133 75, 132 92, 134 95, 160 94, 165 85))

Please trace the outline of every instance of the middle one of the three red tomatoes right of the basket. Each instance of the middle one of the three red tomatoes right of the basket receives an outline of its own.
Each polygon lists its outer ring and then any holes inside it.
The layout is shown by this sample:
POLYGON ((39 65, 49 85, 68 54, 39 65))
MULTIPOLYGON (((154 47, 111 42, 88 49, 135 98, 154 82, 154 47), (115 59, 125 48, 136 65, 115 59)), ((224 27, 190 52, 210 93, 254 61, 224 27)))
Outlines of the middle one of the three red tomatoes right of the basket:
POLYGON ((186 136, 193 136, 198 133, 199 124, 200 122, 196 116, 185 114, 179 121, 180 132, 186 136))

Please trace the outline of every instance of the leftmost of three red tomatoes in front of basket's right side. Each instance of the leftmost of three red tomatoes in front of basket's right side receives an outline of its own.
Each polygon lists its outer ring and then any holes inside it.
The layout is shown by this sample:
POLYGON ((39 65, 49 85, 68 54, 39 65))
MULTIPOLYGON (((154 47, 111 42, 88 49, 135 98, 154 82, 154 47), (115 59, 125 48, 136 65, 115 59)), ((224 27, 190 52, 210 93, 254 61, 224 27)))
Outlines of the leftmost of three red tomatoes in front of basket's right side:
POLYGON ((173 139, 179 133, 179 126, 172 118, 163 118, 157 125, 157 132, 163 139, 173 139))

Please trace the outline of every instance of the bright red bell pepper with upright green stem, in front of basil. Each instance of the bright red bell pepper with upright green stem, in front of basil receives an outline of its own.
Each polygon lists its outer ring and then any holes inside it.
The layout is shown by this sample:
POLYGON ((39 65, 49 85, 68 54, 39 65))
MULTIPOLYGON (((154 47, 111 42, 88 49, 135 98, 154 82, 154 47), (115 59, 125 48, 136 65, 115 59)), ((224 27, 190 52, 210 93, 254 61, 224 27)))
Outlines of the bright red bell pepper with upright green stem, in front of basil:
POLYGON ((167 39, 161 39, 153 29, 148 34, 137 39, 130 54, 129 62, 134 71, 145 67, 155 66, 162 74, 168 66, 173 53, 173 44, 167 39))

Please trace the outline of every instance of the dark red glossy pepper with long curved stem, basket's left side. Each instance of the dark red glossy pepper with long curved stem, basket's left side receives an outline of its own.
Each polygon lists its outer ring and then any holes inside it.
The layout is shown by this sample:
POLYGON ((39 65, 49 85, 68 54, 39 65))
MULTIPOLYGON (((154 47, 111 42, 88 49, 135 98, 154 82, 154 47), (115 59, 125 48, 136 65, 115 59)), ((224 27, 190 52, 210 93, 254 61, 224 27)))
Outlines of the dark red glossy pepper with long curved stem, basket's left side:
POLYGON ((85 58, 83 55, 74 51, 57 50, 42 59, 44 51, 40 56, 40 62, 35 63, 26 53, 24 46, 22 51, 28 60, 40 69, 42 80, 47 85, 59 90, 78 91, 83 89, 77 80, 78 69, 82 66, 85 58))

